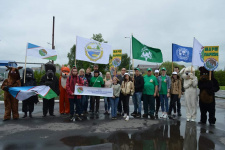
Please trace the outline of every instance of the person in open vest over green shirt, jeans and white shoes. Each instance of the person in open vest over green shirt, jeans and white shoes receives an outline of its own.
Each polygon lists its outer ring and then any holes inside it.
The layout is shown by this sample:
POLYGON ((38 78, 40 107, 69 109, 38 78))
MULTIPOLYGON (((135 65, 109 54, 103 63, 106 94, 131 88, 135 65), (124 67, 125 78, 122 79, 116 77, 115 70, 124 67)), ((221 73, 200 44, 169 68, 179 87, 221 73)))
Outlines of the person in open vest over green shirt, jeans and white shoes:
POLYGON ((162 115, 160 118, 167 118, 169 111, 168 98, 170 97, 170 77, 166 75, 166 68, 162 67, 162 74, 158 77, 159 82, 159 98, 161 101, 162 115), (166 107, 166 108, 165 108, 166 107))

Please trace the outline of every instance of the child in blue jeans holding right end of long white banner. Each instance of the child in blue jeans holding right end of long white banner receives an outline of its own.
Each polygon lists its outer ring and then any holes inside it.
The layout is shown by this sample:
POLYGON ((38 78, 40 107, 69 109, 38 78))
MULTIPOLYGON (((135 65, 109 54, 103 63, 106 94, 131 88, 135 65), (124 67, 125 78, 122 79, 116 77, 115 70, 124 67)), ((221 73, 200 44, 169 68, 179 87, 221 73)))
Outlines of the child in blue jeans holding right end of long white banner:
POLYGON ((111 84, 111 88, 113 88, 113 97, 110 97, 110 104, 111 104, 111 116, 112 119, 117 119, 117 107, 119 102, 120 96, 120 84, 118 83, 119 79, 117 77, 113 77, 113 83, 111 84))

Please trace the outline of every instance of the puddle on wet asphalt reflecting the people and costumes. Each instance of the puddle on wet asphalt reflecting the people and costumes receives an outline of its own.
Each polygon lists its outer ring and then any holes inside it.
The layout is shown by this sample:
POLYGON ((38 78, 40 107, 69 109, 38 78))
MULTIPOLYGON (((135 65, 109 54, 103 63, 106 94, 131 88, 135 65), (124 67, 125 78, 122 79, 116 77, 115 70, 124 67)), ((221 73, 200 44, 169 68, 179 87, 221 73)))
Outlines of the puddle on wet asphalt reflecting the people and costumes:
POLYGON ((70 136, 60 141, 72 149, 101 149, 104 144, 109 144, 108 149, 112 150, 215 149, 215 143, 205 134, 209 134, 207 130, 200 128, 200 131, 197 131, 195 123, 187 123, 185 132, 181 133, 180 122, 177 121, 171 125, 153 125, 147 130, 134 133, 116 131, 106 138, 70 136))

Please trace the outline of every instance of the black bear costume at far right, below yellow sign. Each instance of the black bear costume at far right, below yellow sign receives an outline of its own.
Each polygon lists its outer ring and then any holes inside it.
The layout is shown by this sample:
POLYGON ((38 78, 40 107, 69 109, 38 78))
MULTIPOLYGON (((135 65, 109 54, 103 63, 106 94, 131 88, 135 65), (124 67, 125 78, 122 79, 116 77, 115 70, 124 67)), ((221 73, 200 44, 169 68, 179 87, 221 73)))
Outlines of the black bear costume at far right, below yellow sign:
POLYGON ((209 113, 209 124, 214 125, 216 123, 215 117, 215 92, 219 91, 220 87, 218 81, 214 78, 213 72, 211 74, 211 80, 209 79, 209 71, 205 67, 200 67, 200 79, 198 82, 199 94, 199 107, 201 112, 200 124, 206 124, 207 112, 209 113))

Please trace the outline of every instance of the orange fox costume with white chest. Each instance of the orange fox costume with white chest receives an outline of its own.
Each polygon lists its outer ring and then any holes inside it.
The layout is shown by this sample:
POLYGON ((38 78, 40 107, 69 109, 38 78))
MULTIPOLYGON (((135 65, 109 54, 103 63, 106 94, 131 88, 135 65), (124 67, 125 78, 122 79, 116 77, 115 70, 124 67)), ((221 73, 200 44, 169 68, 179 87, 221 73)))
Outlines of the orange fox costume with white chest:
POLYGON ((69 66, 62 65, 61 76, 59 77, 59 113, 62 115, 70 113, 70 102, 66 93, 66 80, 69 77, 69 74, 69 66))

